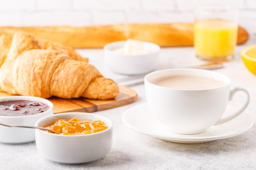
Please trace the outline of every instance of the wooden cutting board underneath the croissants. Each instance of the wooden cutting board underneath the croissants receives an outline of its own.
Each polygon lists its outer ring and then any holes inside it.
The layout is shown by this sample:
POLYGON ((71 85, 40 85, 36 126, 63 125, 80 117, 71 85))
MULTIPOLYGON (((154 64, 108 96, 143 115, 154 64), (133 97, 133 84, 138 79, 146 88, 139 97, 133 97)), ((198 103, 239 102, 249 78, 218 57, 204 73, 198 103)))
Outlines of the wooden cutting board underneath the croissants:
MULTIPOLYGON (((10 96, 8 93, 0 92, 0 97, 10 96)), ((119 95, 110 100, 94 100, 87 98, 62 99, 51 97, 49 100, 54 105, 54 113, 63 112, 87 112, 92 113, 100 110, 116 108, 137 100, 137 93, 126 86, 119 86, 119 95)))

